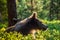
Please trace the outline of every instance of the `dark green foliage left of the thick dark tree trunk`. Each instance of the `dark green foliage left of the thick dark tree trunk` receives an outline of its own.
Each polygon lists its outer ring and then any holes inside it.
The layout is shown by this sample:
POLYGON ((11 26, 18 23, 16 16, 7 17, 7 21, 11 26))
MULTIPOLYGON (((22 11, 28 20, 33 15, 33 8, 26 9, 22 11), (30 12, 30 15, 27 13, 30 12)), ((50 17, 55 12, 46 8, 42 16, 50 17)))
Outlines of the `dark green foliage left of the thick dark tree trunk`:
MULTIPOLYGON (((0 20, 3 22, 7 21, 7 1, 0 0, 0 20)), ((0 21, 1 22, 1 21, 0 21)))

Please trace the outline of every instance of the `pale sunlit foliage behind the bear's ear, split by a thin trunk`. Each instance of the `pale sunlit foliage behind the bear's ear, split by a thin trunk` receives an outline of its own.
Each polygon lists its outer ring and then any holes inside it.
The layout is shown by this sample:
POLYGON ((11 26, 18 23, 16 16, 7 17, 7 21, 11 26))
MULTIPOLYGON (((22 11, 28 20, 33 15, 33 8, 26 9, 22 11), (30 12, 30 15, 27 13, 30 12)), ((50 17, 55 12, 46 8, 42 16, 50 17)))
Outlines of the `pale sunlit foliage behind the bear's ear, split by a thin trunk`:
MULTIPOLYGON (((48 19, 50 11, 50 0, 34 0, 34 10, 38 13, 38 17, 48 19)), ((31 14, 31 0, 19 0, 17 4, 18 18, 24 19, 31 14)))

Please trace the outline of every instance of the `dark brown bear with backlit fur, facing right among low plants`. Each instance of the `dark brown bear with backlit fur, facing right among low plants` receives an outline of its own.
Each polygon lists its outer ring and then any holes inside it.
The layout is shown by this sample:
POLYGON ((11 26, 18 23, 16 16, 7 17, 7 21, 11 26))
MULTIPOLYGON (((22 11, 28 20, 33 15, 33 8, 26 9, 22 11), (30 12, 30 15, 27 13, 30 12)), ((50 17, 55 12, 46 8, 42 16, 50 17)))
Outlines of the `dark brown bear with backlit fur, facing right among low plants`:
POLYGON ((17 22, 14 26, 7 28, 7 32, 17 31, 23 35, 34 34, 36 30, 46 30, 47 26, 37 19, 37 13, 33 13, 30 17, 17 22))

